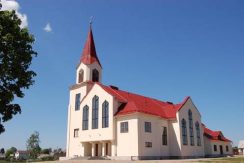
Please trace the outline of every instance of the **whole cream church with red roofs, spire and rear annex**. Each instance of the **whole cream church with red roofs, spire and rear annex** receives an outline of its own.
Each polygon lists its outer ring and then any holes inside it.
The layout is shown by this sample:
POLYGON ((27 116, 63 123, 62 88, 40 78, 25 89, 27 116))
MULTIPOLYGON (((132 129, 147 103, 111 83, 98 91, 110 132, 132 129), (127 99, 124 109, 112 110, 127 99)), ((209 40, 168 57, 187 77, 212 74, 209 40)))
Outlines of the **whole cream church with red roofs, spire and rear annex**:
POLYGON ((67 158, 194 158, 231 155, 231 145, 202 124, 190 97, 174 104, 103 85, 90 27, 70 87, 67 158))

